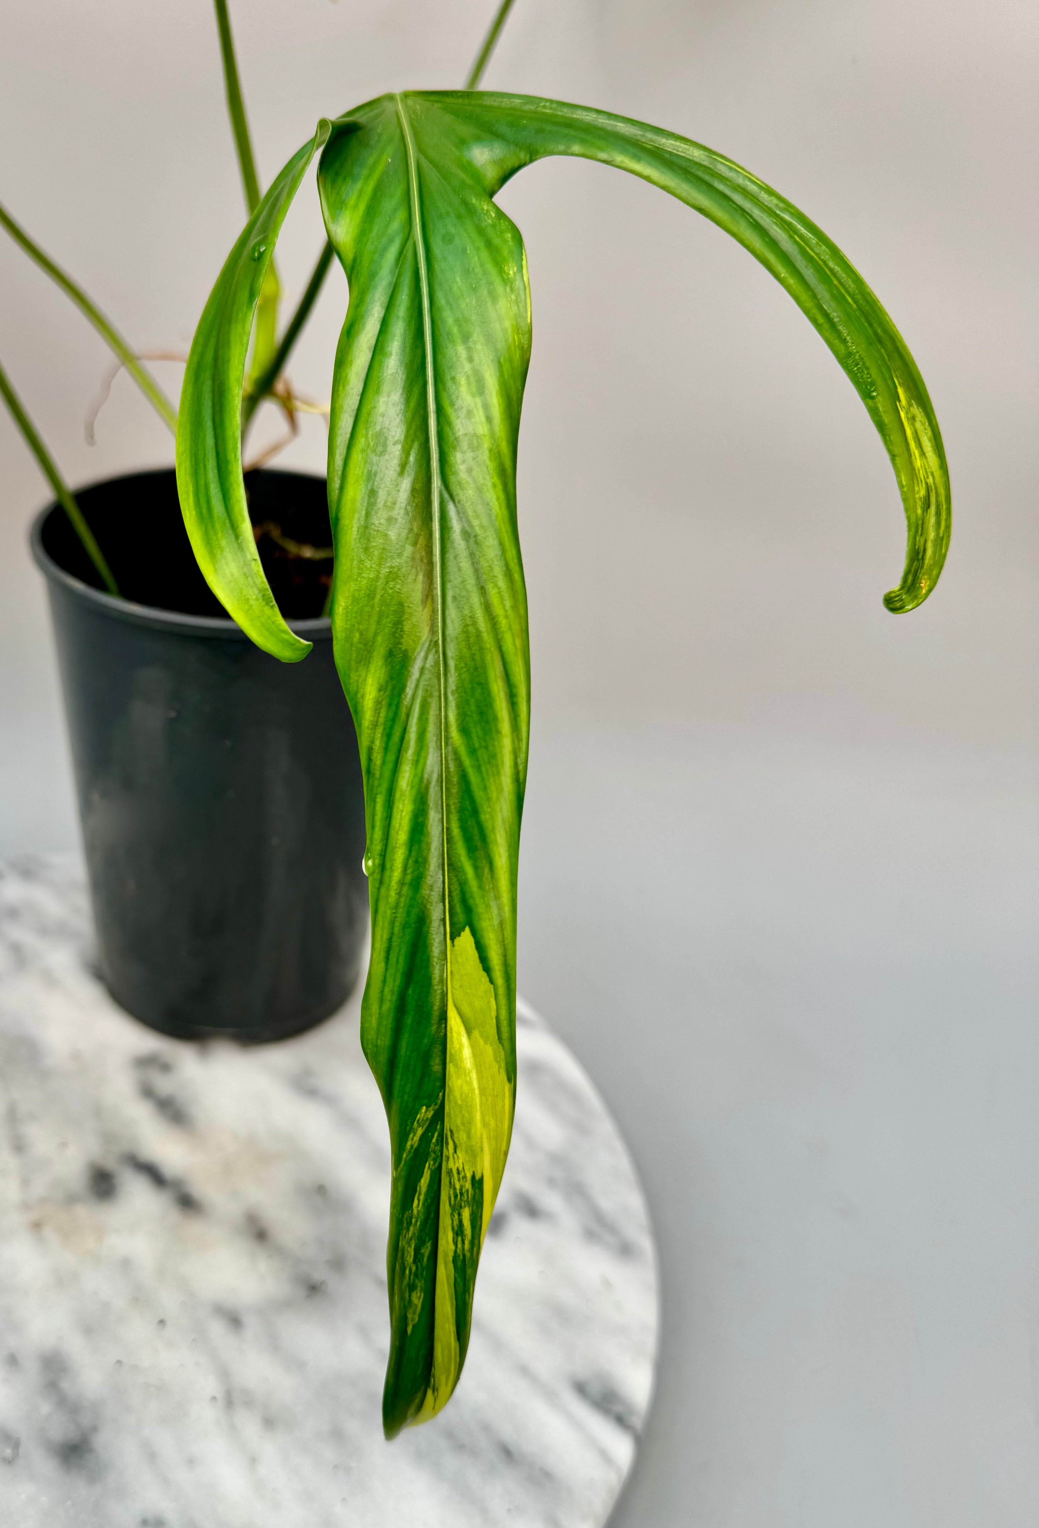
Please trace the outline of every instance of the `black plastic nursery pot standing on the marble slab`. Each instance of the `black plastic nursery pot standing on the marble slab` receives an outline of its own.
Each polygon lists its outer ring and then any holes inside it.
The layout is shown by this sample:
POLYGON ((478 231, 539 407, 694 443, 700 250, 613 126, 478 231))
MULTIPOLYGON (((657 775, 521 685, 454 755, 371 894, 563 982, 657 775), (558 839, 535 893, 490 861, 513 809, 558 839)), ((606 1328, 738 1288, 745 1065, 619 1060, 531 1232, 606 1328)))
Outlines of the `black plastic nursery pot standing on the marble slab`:
POLYGON ((191 555, 173 471, 76 498, 119 585, 64 510, 32 553, 47 578, 98 961, 134 1018, 183 1039, 281 1039, 356 983, 368 892, 358 740, 321 619, 325 484, 246 478, 257 544, 289 625, 280 663, 249 642, 191 555))

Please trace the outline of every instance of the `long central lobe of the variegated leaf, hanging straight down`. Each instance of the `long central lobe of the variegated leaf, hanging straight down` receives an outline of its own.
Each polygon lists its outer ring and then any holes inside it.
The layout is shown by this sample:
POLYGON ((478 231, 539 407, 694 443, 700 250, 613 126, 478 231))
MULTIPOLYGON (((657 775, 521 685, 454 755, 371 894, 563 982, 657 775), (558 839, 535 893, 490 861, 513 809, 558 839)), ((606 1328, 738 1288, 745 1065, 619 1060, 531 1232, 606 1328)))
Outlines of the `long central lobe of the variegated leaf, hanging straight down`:
POLYGON ((365 778, 361 1039, 394 1163, 388 1433, 455 1386, 509 1149, 529 717, 523 241, 420 136, 414 105, 359 113, 318 176, 350 283, 329 443, 332 620, 365 778))

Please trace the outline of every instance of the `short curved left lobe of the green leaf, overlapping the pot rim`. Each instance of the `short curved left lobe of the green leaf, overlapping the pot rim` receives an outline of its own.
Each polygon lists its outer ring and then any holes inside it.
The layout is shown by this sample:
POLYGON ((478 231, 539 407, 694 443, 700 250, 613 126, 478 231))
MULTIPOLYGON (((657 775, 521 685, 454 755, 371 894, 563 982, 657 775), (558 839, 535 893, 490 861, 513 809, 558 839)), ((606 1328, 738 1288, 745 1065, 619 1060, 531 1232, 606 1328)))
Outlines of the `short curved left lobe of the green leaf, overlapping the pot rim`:
POLYGON ((177 492, 199 567, 246 636, 286 663, 312 643, 281 617, 260 565, 241 477, 241 388, 249 335, 286 212, 332 125, 318 124, 241 231, 209 293, 188 356, 177 423, 177 492))

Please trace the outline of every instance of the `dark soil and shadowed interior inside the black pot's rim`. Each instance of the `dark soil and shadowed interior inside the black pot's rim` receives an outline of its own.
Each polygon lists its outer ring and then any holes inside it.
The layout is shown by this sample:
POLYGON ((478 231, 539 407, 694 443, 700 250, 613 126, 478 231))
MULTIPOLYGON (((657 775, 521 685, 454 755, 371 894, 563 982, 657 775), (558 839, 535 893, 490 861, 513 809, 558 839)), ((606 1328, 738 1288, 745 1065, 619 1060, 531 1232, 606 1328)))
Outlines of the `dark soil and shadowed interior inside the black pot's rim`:
MULTIPOLYGON (((249 518, 263 571, 287 620, 319 616, 332 581, 324 478, 260 468, 246 474, 249 518)), ((119 585, 138 605, 183 616, 228 613, 209 591, 183 529, 173 469, 136 472, 79 489, 76 501, 119 585)), ((66 515, 52 515, 44 550, 73 578, 102 588, 66 515)))

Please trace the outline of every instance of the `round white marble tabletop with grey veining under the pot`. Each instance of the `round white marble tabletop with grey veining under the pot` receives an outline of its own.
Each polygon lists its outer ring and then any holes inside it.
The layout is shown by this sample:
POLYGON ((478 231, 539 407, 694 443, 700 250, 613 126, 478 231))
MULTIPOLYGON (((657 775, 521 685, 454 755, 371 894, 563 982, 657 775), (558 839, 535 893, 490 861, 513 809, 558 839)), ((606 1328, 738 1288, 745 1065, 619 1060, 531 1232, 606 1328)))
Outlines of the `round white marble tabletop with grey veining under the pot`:
POLYGON ((451 1406, 387 1444, 390 1154, 359 998, 257 1050, 92 975, 72 859, 0 868, 0 1522, 597 1528, 652 1387, 634 1169, 526 1007, 451 1406))

